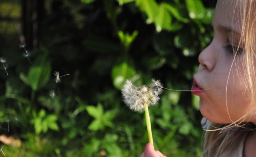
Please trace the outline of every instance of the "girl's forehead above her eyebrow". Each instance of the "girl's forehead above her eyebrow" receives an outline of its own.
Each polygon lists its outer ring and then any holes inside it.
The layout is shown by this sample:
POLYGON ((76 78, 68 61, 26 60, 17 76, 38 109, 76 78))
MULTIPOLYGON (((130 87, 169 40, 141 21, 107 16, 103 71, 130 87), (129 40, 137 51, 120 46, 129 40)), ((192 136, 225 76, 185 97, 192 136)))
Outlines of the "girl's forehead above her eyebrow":
POLYGON ((218 0, 213 18, 214 25, 232 28, 237 32, 242 30, 242 20, 235 5, 237 0, 218 0))

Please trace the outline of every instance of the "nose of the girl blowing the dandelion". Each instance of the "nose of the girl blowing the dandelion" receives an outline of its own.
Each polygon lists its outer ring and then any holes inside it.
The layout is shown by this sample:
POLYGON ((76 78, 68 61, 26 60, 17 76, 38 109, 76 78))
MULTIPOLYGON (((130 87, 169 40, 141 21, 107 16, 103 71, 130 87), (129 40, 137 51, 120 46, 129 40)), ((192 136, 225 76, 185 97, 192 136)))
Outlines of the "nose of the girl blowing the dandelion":
POLYGON ((199 55, 198 60, 203 69, 211 72, 215 67, 215 52, 213 42, 199 55))

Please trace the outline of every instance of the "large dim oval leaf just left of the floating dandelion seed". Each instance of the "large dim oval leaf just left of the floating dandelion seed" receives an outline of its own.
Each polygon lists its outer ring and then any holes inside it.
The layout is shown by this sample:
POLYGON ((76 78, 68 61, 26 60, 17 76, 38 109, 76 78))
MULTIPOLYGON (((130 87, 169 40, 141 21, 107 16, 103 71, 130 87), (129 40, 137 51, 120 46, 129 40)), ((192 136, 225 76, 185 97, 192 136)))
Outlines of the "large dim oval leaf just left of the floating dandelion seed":
POLYGON ((45 86, 50 79, 51 64, 48 58, 48 54, 45 52, 43 55, 39 55, 35 61, 33 61, 29 74, 27 76, 27 83, 33 90, 38 90, 45 86))

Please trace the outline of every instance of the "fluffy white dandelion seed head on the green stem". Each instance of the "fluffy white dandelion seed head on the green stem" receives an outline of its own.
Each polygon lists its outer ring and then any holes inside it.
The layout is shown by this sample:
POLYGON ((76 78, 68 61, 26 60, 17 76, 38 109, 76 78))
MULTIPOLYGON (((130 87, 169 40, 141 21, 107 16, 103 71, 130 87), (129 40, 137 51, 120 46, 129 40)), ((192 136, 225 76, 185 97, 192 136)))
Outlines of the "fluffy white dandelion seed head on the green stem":
POLYGON ((163 85, 159 80, 152 79, 150 86, 143 85, 137 88, 130 80, 124 83, 121 90, 124 103, 132 110, 138 112, 144 109, 144 103, 148 106, 156 105, 163 94, 163 85))

